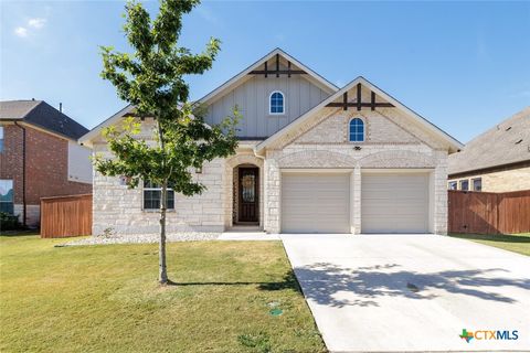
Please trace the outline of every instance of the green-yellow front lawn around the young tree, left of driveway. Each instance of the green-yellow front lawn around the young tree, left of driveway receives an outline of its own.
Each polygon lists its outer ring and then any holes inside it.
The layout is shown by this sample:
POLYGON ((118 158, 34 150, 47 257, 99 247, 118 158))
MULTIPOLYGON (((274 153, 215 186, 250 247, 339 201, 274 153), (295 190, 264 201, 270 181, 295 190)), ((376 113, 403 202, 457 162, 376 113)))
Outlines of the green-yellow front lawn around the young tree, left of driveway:
POLYGON ((0 352, 326 352, 279 242, 61 243, 0 237, 0 352))

